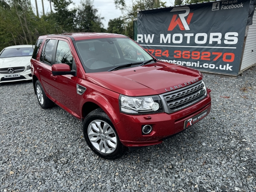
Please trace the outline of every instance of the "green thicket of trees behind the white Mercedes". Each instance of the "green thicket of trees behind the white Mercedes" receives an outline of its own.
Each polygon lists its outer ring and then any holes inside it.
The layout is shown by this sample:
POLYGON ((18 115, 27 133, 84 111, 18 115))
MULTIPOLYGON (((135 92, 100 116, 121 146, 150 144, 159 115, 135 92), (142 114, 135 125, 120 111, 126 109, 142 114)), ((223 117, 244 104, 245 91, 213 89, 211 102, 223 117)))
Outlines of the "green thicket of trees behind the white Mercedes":
POLYGON ((27 0, 0 0, 0 18, 0 49, 35 44, 40 35, 61 33, 53 14, 37 17, 27 0))

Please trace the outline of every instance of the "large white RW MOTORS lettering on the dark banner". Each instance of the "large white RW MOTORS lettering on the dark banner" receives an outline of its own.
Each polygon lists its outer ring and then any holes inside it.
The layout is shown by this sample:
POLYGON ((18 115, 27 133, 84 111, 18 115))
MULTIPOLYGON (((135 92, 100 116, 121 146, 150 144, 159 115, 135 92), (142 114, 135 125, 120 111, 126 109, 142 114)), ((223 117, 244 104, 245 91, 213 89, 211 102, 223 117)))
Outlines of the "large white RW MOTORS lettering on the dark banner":
MULTIPOLYGON (((227 32, 223 35, 220 32, 210 33, 175 33, 175 34, 160 34, 160 39, 158 40, 160 44, 171 42, 173 44, 181 44, 185 43, 195 43, 195 44, 213 44, 217 42, 217 44, 237 44, 238 42, 238 33, 237 32, 227 32), (222 38, 224 36, 224 39, 222 38), (223 41, 224 40, 224 41, 223 41)), ((137 35, 137 42, 138 43, 153 43, 155 34, 138 34, 137 35)), ((155 41, 154 41, 155 42, 155 41)))

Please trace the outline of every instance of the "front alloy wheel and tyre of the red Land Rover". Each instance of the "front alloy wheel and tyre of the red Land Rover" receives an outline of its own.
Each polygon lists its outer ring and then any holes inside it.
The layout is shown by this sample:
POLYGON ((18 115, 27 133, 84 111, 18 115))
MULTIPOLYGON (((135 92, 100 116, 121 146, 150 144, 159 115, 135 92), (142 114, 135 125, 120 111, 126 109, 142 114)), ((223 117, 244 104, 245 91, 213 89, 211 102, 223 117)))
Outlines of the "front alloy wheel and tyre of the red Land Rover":
POLYGON ((122 157, 127 150, 120 142, 108 115, 101 108, 86 116, 83 133, 90 149, 102 158, 114 160, 122 157))

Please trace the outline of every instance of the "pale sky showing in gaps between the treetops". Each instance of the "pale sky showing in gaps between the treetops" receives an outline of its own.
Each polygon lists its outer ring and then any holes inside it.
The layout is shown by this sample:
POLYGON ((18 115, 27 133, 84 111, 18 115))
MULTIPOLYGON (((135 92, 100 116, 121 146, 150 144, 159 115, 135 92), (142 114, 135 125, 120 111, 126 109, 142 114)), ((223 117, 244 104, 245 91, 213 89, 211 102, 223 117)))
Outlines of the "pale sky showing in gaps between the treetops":
MULTIPOLYGON (((36 14, 35 0, 30 0, 30 1, 31 1, 33 12, 36 14)), ((81 0, 72 0, 72 1, 73 1, 73 4, 70 5, 69 7, 70 8, 72 8, 72 7, 78 8, 81 0)), ((174 0, 162 0, 162 1, 166 1, 166 6, 174 5, 174 0)), ((44 2, 44 12, 45 13, 51 12, 49 0, 43 0, 43 2, 44 2)), ((125 3, 128 7, 127 10, 131 10, 132 0, 125 0, 125 3)), ((42 0, 37 0, 37 4, 38 4, 39 17, 41 17, 41 15, 43 15, 42 0)), ((108 28, 108 21, 110 19, 114 19, 114 18, 117 18, 117 17, 120 17, 121 15, 123 15, 119 9, 116 9, 114 0, 93 0, 93 7, 94 7, 94 9, 98 10, 98 14, 100 15, 100 17, 105 18, 104 20, 102 20, 103 27, 105 29, 108 28)), ((53 3, 52 3, 52 11, 54 11, 53 8, 54 7, 53 7, 53 3)))

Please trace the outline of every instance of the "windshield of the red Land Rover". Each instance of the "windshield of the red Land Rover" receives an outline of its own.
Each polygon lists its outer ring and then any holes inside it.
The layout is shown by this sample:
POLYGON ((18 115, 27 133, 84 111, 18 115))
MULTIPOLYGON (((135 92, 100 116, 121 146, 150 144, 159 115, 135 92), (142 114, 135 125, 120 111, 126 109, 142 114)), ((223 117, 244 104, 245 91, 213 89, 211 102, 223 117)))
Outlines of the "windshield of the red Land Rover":
POLYGON ((87 73, 108 71, 119 65, 152 59, 151 55, 129 38, 76 41, 75 46, 87 73))

